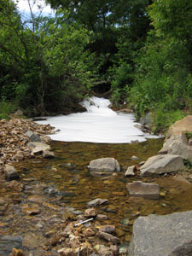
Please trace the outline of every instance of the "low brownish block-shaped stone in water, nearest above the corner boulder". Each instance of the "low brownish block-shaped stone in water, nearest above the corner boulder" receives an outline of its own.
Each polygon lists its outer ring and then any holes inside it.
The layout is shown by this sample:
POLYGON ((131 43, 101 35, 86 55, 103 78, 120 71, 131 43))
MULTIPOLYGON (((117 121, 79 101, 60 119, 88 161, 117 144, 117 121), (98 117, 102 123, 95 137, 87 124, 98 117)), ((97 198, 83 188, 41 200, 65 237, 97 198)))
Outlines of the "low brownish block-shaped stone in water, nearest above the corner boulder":
POLYGON ((127 183, 126 189, 131 196, 143 196, 150 199, 158 199, 160 197, 160 186, 156 183, 135 181, 133 183, 127 183))

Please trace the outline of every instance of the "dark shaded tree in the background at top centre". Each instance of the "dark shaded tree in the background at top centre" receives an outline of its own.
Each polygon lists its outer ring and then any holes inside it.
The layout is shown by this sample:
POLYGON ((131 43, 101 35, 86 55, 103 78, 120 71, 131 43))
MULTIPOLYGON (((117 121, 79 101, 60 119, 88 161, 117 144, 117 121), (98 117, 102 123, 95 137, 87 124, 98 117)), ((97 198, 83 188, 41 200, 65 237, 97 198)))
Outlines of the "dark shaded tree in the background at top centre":
POLYGON ((108 67, 113 65, 113 55, 118 52, 116 44, 123 32, 121 27, 129 30, 131 41, 143 38, 143 34, 148 31, 149 20, 145 9, 150 2, 150 0, 47 0, 52 8, 69 11, 68 22, 78 21, 93 32, 88 49, 96 52, 102 75, 106 75, 108 67))

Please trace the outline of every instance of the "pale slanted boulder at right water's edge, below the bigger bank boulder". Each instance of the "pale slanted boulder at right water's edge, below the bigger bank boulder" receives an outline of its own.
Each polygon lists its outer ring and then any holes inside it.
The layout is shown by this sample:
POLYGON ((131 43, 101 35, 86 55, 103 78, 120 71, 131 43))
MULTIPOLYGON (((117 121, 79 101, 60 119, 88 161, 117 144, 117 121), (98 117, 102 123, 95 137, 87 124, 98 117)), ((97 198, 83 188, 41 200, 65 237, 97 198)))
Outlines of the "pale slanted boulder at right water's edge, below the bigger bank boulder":
POLYGON ((179 155, 159 154, 149 157, 140 168, 142 176, 155 176, 184 169, 183 158, 179 155))

